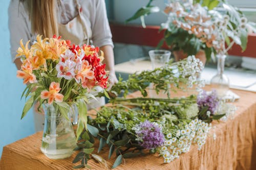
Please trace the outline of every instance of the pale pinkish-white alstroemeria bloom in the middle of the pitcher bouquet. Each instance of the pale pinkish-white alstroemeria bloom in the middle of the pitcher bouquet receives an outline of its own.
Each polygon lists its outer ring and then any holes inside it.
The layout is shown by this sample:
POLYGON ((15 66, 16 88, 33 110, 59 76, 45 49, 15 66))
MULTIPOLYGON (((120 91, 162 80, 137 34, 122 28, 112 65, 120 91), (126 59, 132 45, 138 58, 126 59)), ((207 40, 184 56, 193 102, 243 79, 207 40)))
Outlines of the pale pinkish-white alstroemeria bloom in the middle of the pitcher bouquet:
POLYGON ((74 68, 76 66, 76 63, 71 60, 66 60, 65 62, 59 62, 56 65, 56 70, 58 71, 57 77, 58 78, 65 78, 67 80, 70 80, 74 78, 75 73, 74 73, 74 68))

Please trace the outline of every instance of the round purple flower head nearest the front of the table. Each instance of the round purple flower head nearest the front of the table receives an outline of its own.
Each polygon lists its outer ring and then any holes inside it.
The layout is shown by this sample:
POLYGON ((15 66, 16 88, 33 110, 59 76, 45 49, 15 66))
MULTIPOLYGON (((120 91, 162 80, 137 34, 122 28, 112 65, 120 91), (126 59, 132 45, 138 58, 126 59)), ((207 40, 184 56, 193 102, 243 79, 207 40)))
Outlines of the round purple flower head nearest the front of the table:
POLYGON ((139 124, 136 134, 139 139, 139 144, 148 150, 155 149, 164 142, 164 135, 161 129, 148 120, 139 124))

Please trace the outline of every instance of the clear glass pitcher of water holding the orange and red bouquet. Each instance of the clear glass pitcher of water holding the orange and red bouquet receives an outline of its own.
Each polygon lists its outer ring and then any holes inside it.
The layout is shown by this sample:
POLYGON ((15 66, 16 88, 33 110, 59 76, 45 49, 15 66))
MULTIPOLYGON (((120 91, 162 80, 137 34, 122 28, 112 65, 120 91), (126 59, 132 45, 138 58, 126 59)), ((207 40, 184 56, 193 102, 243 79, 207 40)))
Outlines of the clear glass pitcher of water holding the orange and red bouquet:
POLYGON ((69 120, 57 107, 45 104, 45 126, 41 152, 50 159, 63 159, 72 155, 76 147, 76 136, 69 120))

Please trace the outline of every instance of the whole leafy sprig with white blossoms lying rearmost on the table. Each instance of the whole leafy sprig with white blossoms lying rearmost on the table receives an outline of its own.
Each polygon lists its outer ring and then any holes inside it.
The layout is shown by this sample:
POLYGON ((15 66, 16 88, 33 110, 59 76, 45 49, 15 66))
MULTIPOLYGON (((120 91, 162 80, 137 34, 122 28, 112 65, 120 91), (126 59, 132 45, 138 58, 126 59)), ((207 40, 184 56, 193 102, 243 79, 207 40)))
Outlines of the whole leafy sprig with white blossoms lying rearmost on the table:
POLYGON ((155 68, 154 70, 144 70, 140 73, 129 75, 126 81, 119 78, 110 90, 116 96, 122 94, 125 98, 130 91, 139 90, 143 97, 147 96, 146 88, 152 84, 153 90, 158 94, 160 90, 164 90, 169 97, 169 90, 190 88, 193 84, 200 84, 197 80, 197 75, 202 69, 202 63, 189 57, 179 62, 173 63, 173 60, 166 63, 164 67, 155 68), (183 87, 181 85, 187 85, 183 87), (170 88, 170 86, 176 88, 170 88))

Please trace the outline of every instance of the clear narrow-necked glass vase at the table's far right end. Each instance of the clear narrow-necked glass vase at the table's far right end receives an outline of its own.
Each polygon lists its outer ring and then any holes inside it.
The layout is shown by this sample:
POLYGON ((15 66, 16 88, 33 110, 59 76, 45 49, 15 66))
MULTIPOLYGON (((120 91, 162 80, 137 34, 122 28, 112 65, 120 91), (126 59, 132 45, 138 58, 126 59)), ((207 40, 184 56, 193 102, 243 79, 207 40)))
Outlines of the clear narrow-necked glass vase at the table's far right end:
POLYGON ((229 79, 224 75, 226 55, 217 55, 218 60, 218 73, 211 78, 211 85, 216 89, 219 98, 223 98, 229 90, 229 79))

